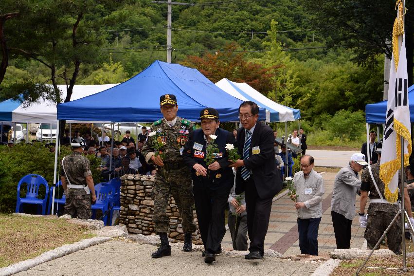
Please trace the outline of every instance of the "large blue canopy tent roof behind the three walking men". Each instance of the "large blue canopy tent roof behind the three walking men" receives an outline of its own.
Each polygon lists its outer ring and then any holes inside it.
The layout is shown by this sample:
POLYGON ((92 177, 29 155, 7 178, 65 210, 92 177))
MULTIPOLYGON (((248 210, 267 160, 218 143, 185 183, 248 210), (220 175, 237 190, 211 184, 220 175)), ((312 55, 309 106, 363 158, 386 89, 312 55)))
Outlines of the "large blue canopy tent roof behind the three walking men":
MULTIPOLYGON (((57 106, 58 120, 154 122, 161 118, 160 96, 174 94, 178 115, 198 121, 200 110, 213 107, 221 122, 238 121, 241 100, 222 91, 197 69, 156 60, 140 74, 103 92, 57 106)), ((259 120, 266 110, 259 109, 259 120)))

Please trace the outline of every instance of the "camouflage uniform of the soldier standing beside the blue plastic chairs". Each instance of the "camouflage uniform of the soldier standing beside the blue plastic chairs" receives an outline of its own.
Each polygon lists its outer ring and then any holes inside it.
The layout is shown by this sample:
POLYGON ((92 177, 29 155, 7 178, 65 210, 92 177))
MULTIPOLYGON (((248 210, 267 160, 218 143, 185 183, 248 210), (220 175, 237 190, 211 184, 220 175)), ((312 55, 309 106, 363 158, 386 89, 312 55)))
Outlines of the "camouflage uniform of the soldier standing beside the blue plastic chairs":
MULTIPOLYGON (((60 167, 60 175, 66 178, 66 184, 87 186, 86 177, 92 175, 88 158, 77 151, 73 151, 64 161, 67 177, 62 167, 63 160, 60 167)), ((82 220, 90 219, 90 216, 92 215, 91 199, 91 195, 87 195, 84 189, 68 187, 66 189, 64 214, 82 220)))

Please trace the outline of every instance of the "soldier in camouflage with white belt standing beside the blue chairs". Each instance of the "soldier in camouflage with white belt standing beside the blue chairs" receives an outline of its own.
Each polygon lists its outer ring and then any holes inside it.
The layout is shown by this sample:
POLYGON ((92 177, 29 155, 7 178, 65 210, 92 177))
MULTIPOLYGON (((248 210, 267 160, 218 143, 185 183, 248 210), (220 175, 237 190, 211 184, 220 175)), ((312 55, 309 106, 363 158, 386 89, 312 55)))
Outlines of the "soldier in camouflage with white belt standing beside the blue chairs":
POLYGON ((82 220, 92 215, 91 202, 96 201, 95 188, 88 158, 82 155, 85 140, 72 139, 72 154, 63 158, 60 167, 60 180, 66 194, 65 215, 82 220))

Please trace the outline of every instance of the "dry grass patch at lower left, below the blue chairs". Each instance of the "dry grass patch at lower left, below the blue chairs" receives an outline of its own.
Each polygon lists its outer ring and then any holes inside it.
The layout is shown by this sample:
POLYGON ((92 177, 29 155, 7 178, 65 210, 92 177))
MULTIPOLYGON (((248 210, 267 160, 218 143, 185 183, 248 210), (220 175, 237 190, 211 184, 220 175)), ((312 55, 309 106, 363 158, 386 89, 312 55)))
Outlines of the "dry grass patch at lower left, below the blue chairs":
POLYGON ((86 231, 61 219, 0 214, 0 267, 94 236, 86 231))

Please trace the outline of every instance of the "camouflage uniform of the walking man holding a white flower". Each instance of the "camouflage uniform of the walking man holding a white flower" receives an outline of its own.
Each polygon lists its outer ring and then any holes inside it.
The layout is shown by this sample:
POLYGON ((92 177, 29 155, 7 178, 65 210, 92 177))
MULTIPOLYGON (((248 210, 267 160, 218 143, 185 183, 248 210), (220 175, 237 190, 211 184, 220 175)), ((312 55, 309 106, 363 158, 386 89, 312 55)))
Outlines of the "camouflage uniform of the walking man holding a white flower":
POLYGON ((165 118, 162 118, 152 124, 151 131, 157 133, 153 137, 148 137, 142 148, 141 152, 145 156, 146 162, 151 163, 150 158, 154 155, 154 139, 165 142, 165 146, 160 149, 162 154, 165 154, 165 157, 162 158, 164 166, 157 170, 151 194, 154 200, 152 221, 155 223, 155 233, 157 234, 168 233, 170 229, 169 219, 166 215, 170 194, 174 197, 180 211, 183 231, 196 231, 196 225, 193 222, 194 196, 191 172, 190 168, 183 164, 180 153, 188 140, 190 130, 193 128, 193 123, 178 116, 174 126, 169 126, 165 118))

